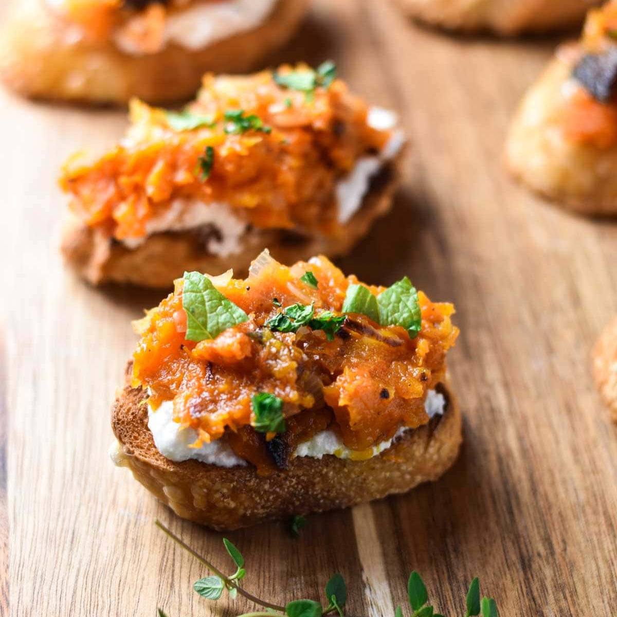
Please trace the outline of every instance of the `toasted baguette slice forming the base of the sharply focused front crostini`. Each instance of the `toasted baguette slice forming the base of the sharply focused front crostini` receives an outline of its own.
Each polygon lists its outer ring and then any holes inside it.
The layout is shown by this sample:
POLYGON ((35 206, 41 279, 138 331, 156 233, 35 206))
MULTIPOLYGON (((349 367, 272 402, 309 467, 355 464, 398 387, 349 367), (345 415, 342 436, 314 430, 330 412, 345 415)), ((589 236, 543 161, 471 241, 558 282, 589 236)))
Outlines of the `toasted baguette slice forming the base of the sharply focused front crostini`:
POLYGON ((443 416, 408 431, 376 457, 357 462, 332 455, 292 458, 288 470, 260 477, 252 466, 223 468, 163 457, 147 427, 146 394, 126 386, 112 409, 113 456, 178 516, 213 529, 346 508, 436 480, 453 464, 462 419, 451 392, 442 392, 447 398, 443 416))

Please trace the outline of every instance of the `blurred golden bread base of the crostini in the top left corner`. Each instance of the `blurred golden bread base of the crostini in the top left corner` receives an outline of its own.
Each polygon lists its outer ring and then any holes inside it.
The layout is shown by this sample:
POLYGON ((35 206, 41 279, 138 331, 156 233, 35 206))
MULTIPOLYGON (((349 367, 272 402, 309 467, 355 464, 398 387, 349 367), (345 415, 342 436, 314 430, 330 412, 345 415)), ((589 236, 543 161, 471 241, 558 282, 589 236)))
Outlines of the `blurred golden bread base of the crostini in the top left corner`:
POLYGON ((247 72, 283 44, 304 17, 309 0, 279 0, 257 28, 192 50, 168 44, 156 54, 131 56, 112 41, 91 44, 44 0, 14 0, 0 36, 0 77, 33 98, 81 103, 154 104, 193 96, 205 72, 247 72))

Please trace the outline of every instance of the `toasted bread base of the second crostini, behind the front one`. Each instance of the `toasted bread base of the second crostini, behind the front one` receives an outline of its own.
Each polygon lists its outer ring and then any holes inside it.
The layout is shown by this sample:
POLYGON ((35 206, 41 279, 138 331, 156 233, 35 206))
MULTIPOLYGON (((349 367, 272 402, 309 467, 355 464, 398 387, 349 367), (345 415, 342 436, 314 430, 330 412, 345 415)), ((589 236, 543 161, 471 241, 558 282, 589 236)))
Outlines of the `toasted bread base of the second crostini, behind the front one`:
POLYGON ((244 275, 251 260, 265 248, 283 263, 294 263, 319 254, 337 257, 349 252, 368 233, 373 222, 390 209, 403 157, 401 151, 396 159, 384 166, 379 181, 371 184, 362 207, 347 223, 342 238, 307 236, 290 242, 286 239, 288 234, 279 230, 254 229, 242 238, 242 250, 238 254, 218 257, 205 251, 192 233, 155 234, 137 249, 130 250, 80 222, 70 220, 62 237, 62 253, 89 283, 113 281, 153 288, 169 288, 185 270, 218 273, 233 268, 236 275, 244 275))

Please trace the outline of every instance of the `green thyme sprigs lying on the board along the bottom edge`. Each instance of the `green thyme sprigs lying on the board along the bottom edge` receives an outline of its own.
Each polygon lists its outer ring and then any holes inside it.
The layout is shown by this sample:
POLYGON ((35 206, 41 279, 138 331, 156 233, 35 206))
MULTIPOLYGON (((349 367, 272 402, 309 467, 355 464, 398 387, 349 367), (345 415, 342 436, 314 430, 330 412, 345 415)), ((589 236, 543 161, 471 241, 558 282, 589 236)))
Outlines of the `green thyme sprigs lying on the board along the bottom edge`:
MULTIPOLYGON (((299 517, 301 518, 301 517, 299 517)), ((247 600, 263 607, 265 610, 244 613, 239 617, 322 617, 323 615, 333 615, 337 613, 339 617, 345 615, 345 605, 347 603, 347 585, 341 574, 336 573, 326 583, 325 604, 316 602, 315 600, 292 600, 285 606, 267 602, 257 596, 250 594, 239 586, 239 581, 246 576, 245 562, 242 553, 226 538, 223 538, 223 544, 226 551, 229 553, 236 571, 233 574, 223 574, 220 569, 213 566, 208 560, 195 552, 188 544, 185 544, 178 536, 173 534, 170 529, 165 527, 158 519, 154 523, 162 529, 176 544, 180 545, 184 550, 188 551, 200 563, 213 573, 212 576, 206 576, 199 579, 193 585, 193 589, 207 600, 218 600, 225 590, 227 590, 230 598, 234 600, 238 594, 244 596, 247 600)), ((407 581, 407 599, 411 610, 410 617, 444 617, 441 613, 434 612, 433 605, 428 601, 428 590, 424 585, 420 574, 415 570, 410 574, 407 581)), ((158 616, 167 617, 164 611, 159 608, 158 616)), ((404 611, 402 607, 396 607, 394 617, 403 617, 404 611)), ((497 611, 497 603, 492 598, 480 598, 480 583, 478 578, 471 581, 471 585, 465 598, 465 613, 464 617, 499 617, 497 611)))

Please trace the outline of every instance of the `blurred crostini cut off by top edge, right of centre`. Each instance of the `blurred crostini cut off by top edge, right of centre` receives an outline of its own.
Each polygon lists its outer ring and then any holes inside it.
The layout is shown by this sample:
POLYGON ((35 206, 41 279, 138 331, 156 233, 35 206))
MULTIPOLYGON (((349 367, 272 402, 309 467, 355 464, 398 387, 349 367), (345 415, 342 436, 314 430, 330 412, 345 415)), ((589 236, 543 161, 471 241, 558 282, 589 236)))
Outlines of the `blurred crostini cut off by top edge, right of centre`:
POLYGON ((593 0, 397 0, 415 19, 447 30, 516 35, 579 23, 593 0))

